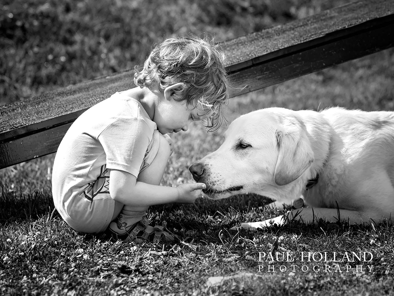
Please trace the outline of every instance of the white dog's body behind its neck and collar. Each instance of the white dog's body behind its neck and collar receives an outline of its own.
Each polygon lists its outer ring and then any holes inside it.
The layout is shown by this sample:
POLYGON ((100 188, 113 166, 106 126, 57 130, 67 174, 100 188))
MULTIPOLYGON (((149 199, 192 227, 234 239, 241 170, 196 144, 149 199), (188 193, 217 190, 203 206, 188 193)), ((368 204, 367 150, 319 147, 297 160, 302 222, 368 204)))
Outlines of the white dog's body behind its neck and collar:
POLYGON ((354 209, 381 217, 394 211, 394 112, 330 108, 331 148, 312 206, 354 209), (386 213, 387 212, 387 213, 386 213))

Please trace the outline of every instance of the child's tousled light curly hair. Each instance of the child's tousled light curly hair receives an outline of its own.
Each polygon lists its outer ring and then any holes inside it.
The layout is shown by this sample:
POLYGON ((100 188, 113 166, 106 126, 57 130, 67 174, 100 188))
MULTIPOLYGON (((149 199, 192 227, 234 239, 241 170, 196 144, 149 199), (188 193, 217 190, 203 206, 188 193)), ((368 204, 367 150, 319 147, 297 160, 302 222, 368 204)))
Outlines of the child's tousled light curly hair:
POLYGON ((211 112, 204 124, 214 131, 226 121, 225 107, 232 89, 224 64, 225 55, 212 38, 171 37, 152 50, 141 70, 136 67, 134 83, 148 88, 158 85, 163 92, 182 82, 185 90, 178 101, 211 112))

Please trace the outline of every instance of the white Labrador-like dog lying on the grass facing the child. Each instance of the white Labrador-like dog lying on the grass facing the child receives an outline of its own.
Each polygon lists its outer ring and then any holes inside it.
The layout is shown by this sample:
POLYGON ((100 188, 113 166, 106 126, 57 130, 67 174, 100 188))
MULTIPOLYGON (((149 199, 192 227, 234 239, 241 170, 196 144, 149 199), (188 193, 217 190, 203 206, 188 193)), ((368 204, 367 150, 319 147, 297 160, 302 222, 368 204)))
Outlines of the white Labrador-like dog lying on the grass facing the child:
POLYGON ((308 208, 243 229, 295 217, 389 223, 394 214, 394 112, 330 108, 321 112, 262 109, 242 115, 215 152, 190 167, 211 199, 257 193, 308 208), (339 215, 338 215, 339 213, 339 215), (387 219, 387 220, 386 220, 387 219))

